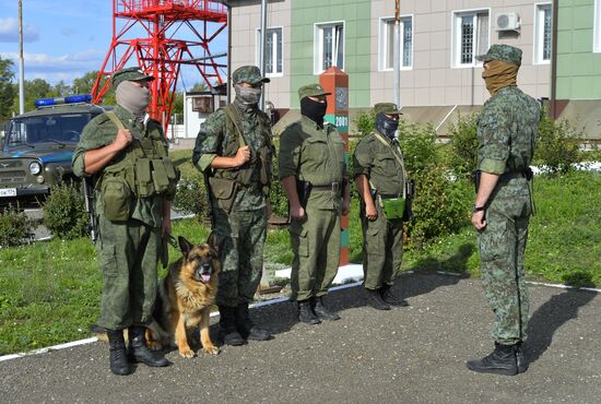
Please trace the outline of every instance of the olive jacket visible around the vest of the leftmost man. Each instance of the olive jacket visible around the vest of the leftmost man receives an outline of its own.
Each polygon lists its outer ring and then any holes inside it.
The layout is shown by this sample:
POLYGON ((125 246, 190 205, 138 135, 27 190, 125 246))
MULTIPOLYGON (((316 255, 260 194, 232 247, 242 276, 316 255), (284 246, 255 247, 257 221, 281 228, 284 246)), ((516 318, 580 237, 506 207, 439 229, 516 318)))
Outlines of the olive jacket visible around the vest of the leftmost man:
MULTIPOLYGON (((165 139, 163 134, 163 128, 161 127, 161 123, 155 121, 154 119, 149 119, 145 121, 145 123, 137 123, 134 120, 133 115, 121 107, 120 105, 117 105, 114 109, 115 115, 121 123, 126 127, 126 129, 129 129, 134 138, 142 139, 145 136, 160 136, 160 139, 165 139)), ((92 119, 85 128, 83 128, 80 142, 78 143, 78 146, 75 147, 75 152, 73 153, 73 173, 79 176, 89 176, 85 174, 84 170, 84 162, 83 156, 85 152, 89 150, 104 147, 108 144, 110 144, 115 136, 117 135, 117 126, 113 123, 110 118, 106 116, 106 114, 102 114, 97 116, 96 118, 92 119)), ((168 150, 167 142, 165 140, 165 150, 168 150)), ((121 151, 120 153, 117 153, 117 155, 113 158, 111 162, 107 164, 107 166, 113 165, 117 163, 118 161, 122 159, 125 157, 126 150, 121 151)), ((98 177, 102 175, 102 170, 95 175, 95 177, 98 177)), ((102 198, 99 198, 99 190, 96 187, 95 191, 95 209, 96 212, 104 212, 104 204, 102 201, 102 198)), ((151 198, 140 198, 140 199, 132 199, 131 201, 133 207, 130 210, 132 212, 131 217, 139 219, 149 226, 158 227, 161 226, 161 223, 163 221, 163 198, 162 197, 151 197, 151 198)))

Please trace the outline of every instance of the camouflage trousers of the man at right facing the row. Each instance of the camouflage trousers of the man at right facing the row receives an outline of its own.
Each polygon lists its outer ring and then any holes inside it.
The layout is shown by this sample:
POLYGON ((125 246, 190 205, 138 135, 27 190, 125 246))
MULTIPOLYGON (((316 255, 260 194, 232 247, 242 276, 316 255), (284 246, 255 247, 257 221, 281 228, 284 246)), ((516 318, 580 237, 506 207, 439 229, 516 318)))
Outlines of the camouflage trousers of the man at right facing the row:
POLYGON ((511 345, 526 337, 529 297, 523 254, 531 214, 528 193, 500 189, 486 211, 486 227, 479 233, 482 285, 495 321, 491 336, 511 345))

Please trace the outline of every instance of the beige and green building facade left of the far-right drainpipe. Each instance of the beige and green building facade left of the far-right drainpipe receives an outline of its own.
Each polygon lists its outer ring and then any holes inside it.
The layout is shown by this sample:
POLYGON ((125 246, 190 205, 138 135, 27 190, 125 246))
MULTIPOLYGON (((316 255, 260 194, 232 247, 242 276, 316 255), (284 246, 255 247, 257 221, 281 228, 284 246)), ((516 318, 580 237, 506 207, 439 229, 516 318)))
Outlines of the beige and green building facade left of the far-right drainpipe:
MULTIPOLYGON (((521 48, 518 84, 533 97, 550 96, 551 1, 400 4, 400 97, 410 119, 439 128, 451 111, 482 106, 488 93, 475 56, 493 44, 521 48)), ((232 69, 259 64, 261 2, 231 5, 232 69)), ((269 1, 266 72, 271 83, 266 99, 276 108, 296 109, 296 90, 337 66, 349 74, 351 109, 392 100, 393 17, 393 0, 269 1)))

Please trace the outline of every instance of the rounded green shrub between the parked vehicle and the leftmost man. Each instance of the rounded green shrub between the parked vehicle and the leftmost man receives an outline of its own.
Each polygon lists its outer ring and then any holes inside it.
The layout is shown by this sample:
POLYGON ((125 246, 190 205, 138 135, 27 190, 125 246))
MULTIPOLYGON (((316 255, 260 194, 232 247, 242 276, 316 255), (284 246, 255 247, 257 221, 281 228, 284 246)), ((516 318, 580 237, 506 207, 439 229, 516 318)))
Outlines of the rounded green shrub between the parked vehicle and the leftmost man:
POLYGON ((54 236, 71 240, 87 233, 89 217, 79 183, 59 182, 50 187, 44 203, 44 225, 54 236))

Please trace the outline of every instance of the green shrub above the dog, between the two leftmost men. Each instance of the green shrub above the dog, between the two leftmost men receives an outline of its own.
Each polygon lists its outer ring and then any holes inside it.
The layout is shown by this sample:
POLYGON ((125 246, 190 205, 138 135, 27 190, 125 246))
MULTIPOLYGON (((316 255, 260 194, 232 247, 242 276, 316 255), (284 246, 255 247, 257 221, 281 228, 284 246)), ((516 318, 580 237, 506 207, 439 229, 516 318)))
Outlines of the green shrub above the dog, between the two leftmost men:
POLYGON ((204 179, 199 174, 182 175, 177 183, 173 207, 199 219, 209 217, 209 200, 204 179))

